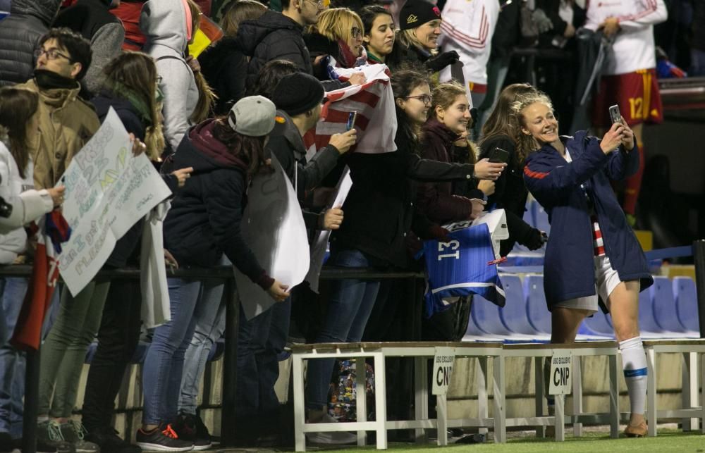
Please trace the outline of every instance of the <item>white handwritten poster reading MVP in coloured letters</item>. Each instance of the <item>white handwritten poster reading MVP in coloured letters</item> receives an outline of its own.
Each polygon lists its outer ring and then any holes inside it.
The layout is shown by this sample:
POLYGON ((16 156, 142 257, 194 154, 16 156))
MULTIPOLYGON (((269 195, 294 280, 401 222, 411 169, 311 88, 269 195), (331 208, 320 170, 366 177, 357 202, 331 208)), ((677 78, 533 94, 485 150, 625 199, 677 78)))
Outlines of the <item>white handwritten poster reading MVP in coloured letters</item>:
POLYGON ((75 295, 102 268, 117 240, 171 190, 145 154, 135 157, 112 108, 61 182, 66 186, 63 216, 73 231, 61 245, 59 271, 75 295))

